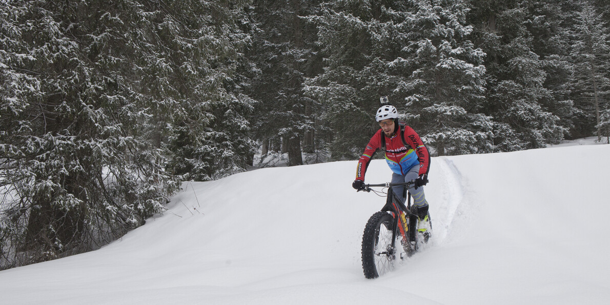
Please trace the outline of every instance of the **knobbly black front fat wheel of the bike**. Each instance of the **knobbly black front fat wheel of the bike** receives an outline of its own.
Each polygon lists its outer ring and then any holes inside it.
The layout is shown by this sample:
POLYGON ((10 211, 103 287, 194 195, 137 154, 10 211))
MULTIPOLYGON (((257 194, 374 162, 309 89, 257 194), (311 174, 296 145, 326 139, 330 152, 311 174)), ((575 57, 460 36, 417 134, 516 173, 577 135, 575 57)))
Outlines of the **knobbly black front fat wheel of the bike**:
POLYGON ((393 223, 394 218, 387 212, 376 212, 368 218, 362 234, 362 270, 367 279, 378 278, 394 267, 393 223))

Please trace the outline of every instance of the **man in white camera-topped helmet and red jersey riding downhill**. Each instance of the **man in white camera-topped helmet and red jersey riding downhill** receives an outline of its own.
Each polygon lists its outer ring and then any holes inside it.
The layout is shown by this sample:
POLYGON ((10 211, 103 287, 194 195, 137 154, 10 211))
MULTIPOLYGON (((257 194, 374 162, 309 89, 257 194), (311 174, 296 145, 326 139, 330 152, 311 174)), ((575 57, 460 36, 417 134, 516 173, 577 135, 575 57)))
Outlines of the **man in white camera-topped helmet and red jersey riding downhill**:
MULTIPOLYGON (((371 137, 364 153, 358 161, 356 180, 352 186, 356 190, 364 188, 364 174, 373 154, 381 149, 386 153, 386 161, 392 173, 392 183, 408 182, 411 184, 409 193, 413 197, 412 212, 419 218, 417 231, 422 232, 425 239, 430 237, 428 219, 428 201, 423 192, 423 185, 428 183, 430 154, 417 133, 403 122, 398 122, 396 108, 387 103, 387 97, 381 98, 382 106, 375 115, 381 129, 371 137)), ((404 187, 392 187, 393 192, 402 194, 404 187)))

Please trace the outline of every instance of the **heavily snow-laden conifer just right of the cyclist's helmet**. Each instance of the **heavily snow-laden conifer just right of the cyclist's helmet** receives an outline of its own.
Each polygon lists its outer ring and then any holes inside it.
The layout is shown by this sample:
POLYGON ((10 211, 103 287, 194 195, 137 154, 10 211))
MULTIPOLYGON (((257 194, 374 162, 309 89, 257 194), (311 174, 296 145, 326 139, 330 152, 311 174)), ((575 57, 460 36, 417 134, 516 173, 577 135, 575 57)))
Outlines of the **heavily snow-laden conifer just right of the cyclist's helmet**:
POLYGON ((440 156, 492 151, 492 120, 481 113, 485 53, 468 38, 467 3, 410 2, 408 43, 390 63, 409 73, 395 88, 407 95, 409 121, 440 156))

